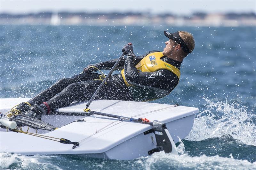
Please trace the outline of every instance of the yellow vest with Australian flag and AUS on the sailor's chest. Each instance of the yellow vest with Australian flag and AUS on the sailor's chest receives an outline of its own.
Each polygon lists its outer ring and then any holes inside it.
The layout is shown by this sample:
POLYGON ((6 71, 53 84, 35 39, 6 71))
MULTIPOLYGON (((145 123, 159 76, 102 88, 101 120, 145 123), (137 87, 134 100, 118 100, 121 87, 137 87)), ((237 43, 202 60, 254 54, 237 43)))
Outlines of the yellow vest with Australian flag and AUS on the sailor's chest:
MULTIPOLYGON (((154 72, 161 69, 169 70, 180 79, 180 70, 175 66, 162 61, 161 58, 163 56, 164 55, 162 52, 150 53, 142 60, 140 60, 140 62, 135 67, 142 72, 154 72)), ((125 79, 124 69, 121 71, 121 73, 125 84, 127 86, 131 86, 131 84, 129 84, 125 79)))

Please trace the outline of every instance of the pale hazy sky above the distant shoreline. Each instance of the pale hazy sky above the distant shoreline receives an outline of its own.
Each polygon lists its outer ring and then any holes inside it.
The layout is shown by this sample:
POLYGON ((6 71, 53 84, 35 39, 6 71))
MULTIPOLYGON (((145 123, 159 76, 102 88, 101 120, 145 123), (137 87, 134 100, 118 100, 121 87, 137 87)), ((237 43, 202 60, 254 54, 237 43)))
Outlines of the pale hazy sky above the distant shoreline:
POLYGON ((256 0, 0 0, 0 13, 24 14, 40 11, 151 12, 256 12, 256 0))

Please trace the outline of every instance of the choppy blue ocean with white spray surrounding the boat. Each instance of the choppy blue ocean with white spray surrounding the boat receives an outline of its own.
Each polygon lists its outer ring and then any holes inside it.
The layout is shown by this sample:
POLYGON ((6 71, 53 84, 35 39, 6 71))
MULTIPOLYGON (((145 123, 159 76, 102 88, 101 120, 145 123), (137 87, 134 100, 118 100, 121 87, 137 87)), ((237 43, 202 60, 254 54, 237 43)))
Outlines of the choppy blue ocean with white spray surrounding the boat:
MULTIPOLYGON (((171 26, 0 26, 0 98, 30 98, 118 58, 132 42, 136 55, 162 51, 163 31, 188 31, 195 50, 181 65, 178 86, 152 102, 198 107, 179 156, 157 152, 119 161, 82 155, 0 153, 0 169, 256 169, 256 28, 171 26)), ((104 73, 108 71, 103 70, 104 73)), ((19 143, 19 139, 17 144, 19 143)))

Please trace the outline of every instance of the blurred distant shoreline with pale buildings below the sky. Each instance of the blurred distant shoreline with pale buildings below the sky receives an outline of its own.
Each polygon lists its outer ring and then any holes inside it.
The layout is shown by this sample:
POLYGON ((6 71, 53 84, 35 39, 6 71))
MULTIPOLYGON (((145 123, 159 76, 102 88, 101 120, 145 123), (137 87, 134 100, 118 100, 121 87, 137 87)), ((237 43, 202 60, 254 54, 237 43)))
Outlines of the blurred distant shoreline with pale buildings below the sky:
POLYGON ((94 26, 256 26, 256 13, 202 13, 178 16, 170 13, 70 13, 40 12, 0 14, 0 25, 94 26))

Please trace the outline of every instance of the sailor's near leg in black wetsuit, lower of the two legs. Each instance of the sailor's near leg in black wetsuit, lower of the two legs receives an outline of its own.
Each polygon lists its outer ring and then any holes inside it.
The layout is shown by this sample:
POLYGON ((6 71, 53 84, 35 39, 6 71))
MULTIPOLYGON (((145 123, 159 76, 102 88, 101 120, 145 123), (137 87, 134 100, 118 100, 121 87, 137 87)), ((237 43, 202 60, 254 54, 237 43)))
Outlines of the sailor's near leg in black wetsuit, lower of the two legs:
POLYGON ((47 110, 49 114, 49 112, 55 111, 57 108, 68 106, 75 100, 88 100, 96 91, 100 83, 100 80, 72 83, 40 106, 47 110))

